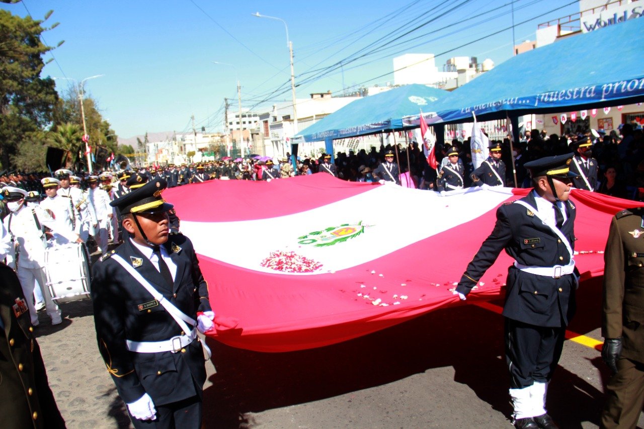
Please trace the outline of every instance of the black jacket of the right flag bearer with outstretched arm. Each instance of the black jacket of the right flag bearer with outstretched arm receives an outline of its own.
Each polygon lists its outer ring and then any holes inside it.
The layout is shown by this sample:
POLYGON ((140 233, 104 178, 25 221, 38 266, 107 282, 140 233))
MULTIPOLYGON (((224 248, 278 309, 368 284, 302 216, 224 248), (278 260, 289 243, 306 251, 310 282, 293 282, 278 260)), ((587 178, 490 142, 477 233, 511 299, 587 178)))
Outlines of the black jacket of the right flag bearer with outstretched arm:
MULTIPOLYGON (((535 193, 522 201, 536 208, 535 193)), ((574 251, 574 218, 576 209, 570 201, 568 218, 560 228, 574 251)), ((481 276, 497 260, 503 249, 516 262, 534 267, 567 265, 570 254, 556 234, 533 213, 516 203, 498 207, 494 230, 483 242, 456 290, 471 291, 481 276)), ((573 318, 575 310, 575 274, 552 278, 520 271, 514 265, 507 274, 506 303, 503 315, 507 318, 542 327, 562 327, 573 318)))

